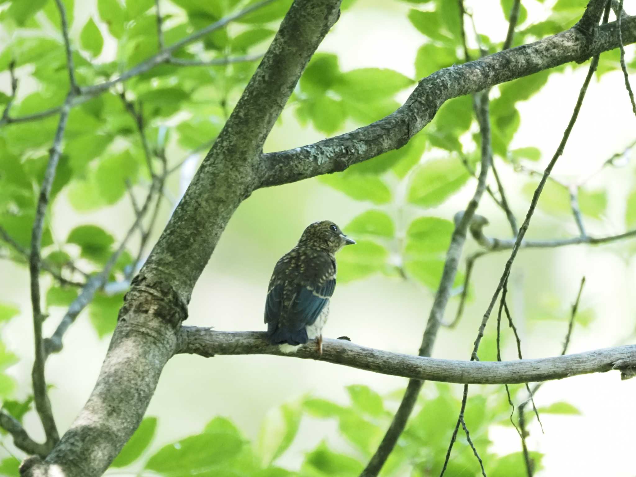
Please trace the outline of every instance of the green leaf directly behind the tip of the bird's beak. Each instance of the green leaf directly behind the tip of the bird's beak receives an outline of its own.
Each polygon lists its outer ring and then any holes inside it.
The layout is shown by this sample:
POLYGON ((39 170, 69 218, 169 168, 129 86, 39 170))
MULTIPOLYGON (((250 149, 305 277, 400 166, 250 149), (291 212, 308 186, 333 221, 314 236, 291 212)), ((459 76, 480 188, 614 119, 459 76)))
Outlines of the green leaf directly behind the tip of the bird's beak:
POLYGON ((369 240, 358 240, 338 254, 338 282, 361 279, 381 271, 389 257, 387 249, 369 240))

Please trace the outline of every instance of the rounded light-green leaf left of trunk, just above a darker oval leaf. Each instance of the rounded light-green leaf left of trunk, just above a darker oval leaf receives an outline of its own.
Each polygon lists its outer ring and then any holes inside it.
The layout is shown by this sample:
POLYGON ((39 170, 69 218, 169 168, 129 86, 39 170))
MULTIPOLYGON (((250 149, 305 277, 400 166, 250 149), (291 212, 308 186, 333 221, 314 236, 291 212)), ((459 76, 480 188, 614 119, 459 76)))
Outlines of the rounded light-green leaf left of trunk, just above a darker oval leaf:
POLYGON ((115 204, 126 193, 126 181, 134 183, 138 173, 139 163, 130 151, 106 156, 95 170, 99 195, 104 198, 106 204, 115 204))

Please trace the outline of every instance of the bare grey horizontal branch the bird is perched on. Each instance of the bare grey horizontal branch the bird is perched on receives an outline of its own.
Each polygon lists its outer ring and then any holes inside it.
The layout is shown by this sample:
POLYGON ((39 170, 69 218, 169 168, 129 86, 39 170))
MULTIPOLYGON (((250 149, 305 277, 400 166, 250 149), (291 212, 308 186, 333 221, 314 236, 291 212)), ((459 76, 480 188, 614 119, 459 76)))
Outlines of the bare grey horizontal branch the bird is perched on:
MULTIPOLYGON (((318 358, 315 343, 300 347, 294 354, 284 354, 279 347, 266 341, 264 331, 214 331, 196 326, 181 328, 176 353, 204 357, 272 354, 302 359, 318 358)), ((392 353, 347 340, 323 338, 320 361, 415 380, 457 384, 519 384, 611 370, 619 370, 627 376, 630 370, 636 368, 636 345, 517 361, 459 361, 392 353)))

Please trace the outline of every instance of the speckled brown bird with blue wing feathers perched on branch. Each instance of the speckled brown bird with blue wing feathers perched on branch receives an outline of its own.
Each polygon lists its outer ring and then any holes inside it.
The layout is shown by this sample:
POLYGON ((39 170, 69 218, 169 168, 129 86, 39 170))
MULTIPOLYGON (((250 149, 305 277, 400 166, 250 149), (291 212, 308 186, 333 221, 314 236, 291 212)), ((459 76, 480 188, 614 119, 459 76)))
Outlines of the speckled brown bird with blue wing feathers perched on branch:
POLYGON ((335 223, 324 220, 309 225, 296 247, 280 258, 265 302, 267 336, 272 344, 287 353, 317 338, 322 356, 322 327, 336 287, 335 254, 355 243, 335 223))

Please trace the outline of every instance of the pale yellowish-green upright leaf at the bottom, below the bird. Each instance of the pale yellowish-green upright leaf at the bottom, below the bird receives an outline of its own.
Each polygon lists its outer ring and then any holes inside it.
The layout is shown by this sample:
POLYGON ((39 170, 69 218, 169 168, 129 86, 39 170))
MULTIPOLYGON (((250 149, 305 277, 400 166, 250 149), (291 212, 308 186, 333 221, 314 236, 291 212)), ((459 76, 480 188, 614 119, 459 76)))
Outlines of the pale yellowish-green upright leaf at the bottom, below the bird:
POLYGON ((266 466, 272 465, 289 448, 298 433, 301 417, 300 403, 283 404, 266 415, 258 438, 259 454, 266 466))

